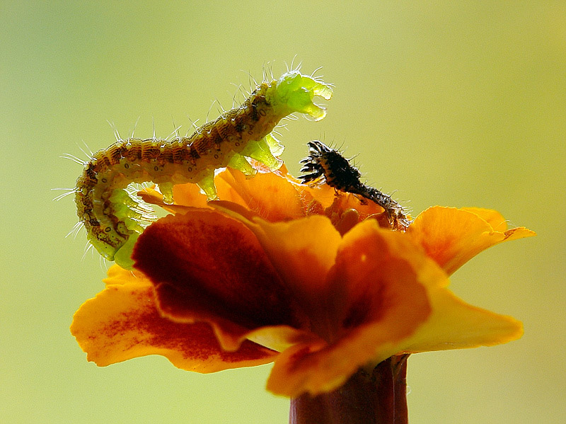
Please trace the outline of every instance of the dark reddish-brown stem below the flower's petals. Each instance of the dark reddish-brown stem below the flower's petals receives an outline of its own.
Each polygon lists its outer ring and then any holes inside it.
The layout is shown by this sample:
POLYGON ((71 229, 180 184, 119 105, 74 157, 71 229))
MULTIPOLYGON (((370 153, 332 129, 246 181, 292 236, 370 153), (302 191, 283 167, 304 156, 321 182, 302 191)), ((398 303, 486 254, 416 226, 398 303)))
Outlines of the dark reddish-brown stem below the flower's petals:
POLYGON ((408 424, 407 357, 359 369, 339 389, 291 399, 289 424, 408 424))

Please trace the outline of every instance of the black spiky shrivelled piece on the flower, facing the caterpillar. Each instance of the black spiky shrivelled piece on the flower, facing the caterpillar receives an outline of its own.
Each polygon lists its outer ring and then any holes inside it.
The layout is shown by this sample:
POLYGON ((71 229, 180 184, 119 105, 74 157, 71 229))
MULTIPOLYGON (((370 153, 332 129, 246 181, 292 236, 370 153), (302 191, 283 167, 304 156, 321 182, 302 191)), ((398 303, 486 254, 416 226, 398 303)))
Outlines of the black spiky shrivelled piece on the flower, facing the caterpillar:
POLYGON ((307 145, 308 156, 301 160, 301 172, 304 174, 299 176, 303 183, 326 183, 336 190, 371 200, 383 207, 392 229, 405 231, 409 227, 411 222, 403 207, 391 196, 362 183, 362 174, 340 154, 340 151, 318 140, 308 142, 307 145))

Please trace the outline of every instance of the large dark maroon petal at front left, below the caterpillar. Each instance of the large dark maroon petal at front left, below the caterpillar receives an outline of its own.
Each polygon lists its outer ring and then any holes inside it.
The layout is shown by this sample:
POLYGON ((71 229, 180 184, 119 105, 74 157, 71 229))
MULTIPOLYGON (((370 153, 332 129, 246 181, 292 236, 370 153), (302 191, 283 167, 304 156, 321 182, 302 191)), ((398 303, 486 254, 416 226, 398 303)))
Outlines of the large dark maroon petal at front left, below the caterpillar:
POLYGON ((304 322, 254 234, 219 212, 159 219, 141 234, 132 258, 156 285, 162 314, 211 323, 226 350, 237 350, 258 328, 304 322))

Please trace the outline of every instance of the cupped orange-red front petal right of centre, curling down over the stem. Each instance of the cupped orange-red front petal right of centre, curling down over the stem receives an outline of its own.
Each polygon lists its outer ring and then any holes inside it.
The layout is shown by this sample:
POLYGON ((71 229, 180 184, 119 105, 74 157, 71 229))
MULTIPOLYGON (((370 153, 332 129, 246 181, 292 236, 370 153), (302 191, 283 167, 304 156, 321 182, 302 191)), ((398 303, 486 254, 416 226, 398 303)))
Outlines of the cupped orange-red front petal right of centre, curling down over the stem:
POLYGON ((446 274, 405 234, 362 222, 344 236, 330 271, 324 313, 312 341, 285 350, 267 388, 296 397, 343 384, 359 367, 376 365, 403 350, 431 313, 427 287, 447 285, 446 274))

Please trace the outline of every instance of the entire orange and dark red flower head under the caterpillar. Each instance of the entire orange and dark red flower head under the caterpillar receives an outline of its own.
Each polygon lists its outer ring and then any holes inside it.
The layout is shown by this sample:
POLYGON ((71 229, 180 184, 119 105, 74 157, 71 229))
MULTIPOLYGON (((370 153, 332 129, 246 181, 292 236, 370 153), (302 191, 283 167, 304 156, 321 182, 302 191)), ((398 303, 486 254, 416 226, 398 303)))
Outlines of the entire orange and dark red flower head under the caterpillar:
POLYGON ((267 388, 296 397, 343 384, 392 355, 519 338, 509 316, 466 304, 449 275, 485 248, 532 236, 491 210, 431 207, 408 231, 383 209, 285 171, 216 177, 221 201, 177 185, 173 215, 112 266, 71 332, 104 366, 143 355, 215 372, 275 362, 267 388))

